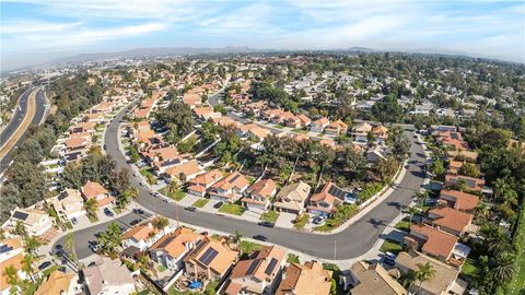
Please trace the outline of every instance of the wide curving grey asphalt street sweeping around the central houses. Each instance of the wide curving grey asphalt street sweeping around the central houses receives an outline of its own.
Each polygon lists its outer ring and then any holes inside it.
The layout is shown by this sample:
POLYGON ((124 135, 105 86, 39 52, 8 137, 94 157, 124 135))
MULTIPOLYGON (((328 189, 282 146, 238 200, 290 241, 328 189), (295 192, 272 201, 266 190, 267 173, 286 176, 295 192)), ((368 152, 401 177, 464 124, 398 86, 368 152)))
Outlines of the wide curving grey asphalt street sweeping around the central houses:
MULTIPOLYGON (((116 160, 118 168, 129 167, 129 164, 126 163, 125 156, 118 150, 117 142, 119 120, 122 118, 124 113, 125 110, 120 111, 110 122, 105 137, 107 154, 116 160)), ((138 203, 148 210, 171 219, 176 219, 175 213, 178 211, 178 219, 184 223, 225 233, 234 233, 235 231, 238 231, 245 237, 264 235, 268 238, 269 243, 324 259, 334 259, 335 245, 337 245, 337 256, 335 258, 337 260, 350 259, 365 253, 373 247, 387 224, 399 215, 404 205, 410 203, 415 192, 419 191, 423 184, 423 150, 413 141, 410 131, 407 131, 406 133, 412 142, 410 148, 411 155, 408 172, 399 186, 396 187, 395 191, 383 203, 371 210, 361 220, 357 221, 345 231, 332 235, 308 234, 280 227, 267 228, 258 226, 252 222, 240 221, 224 215, 202 211, 189 212, 182 208, 175 210, 176 204, 167 204, 162 201, 162 199, 152 197, 148 188, 139 185, 140 179, 133 177, 131 184, 140 191, 140 197, 137 200, 138 203)), ((135 214, 128 214, 119 219, 118 222, 129 224, 133 219, 136 219, 135 214)), ((77 251, 80 258, 85 258, 91 255, 88 241, 96 239, 94 234, 105 231, 108 225, 109 222, 74 233, 77 237, 77 251)), ((63 244, 63 239, 59 240, 58 244, 63 244)))

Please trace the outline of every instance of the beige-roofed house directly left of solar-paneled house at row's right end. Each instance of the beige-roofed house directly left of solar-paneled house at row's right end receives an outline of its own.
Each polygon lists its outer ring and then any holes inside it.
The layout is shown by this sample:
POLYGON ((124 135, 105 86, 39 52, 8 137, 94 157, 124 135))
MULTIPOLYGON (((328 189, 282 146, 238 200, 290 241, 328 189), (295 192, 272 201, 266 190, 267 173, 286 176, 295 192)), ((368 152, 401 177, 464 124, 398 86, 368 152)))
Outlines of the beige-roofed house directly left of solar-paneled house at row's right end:
POLYGON ((311 190, 312 187, 303 181, 288 185, 277 193, 273 209, 300 215, 303 213, 311 190))

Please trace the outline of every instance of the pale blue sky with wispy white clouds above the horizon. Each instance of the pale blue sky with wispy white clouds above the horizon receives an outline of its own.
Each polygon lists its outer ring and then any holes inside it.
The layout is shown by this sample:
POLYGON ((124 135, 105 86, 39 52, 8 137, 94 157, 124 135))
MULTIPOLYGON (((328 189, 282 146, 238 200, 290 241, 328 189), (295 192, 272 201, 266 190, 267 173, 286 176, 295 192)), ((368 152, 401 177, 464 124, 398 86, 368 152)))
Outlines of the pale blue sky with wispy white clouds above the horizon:
POLYGON ((0 0, 1 70, 151 47, 432 50, 525 62, 525 1, 0 0))

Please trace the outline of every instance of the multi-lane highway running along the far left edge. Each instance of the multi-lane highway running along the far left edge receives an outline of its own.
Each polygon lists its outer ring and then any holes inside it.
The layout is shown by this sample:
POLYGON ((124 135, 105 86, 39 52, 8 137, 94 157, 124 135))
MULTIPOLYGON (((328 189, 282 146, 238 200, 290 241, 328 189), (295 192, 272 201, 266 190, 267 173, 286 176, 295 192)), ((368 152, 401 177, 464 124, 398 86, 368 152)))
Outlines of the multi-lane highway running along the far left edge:
MULTIPOLYGON (((16 106, 16 110, 13 115, 13 118, 9 122, 9 125, 3 129, 2 134, 0 135, 0 146, 3 146, 3 144, 16 132, 19 129, 20 125, 23 121, 23 118, 26 116, 27 113, 27 101, 30 97, 30 94, 32 93, 33 88, 28 88, 26 92, 22 94, 19 101, 19 106, 16 106)), ((46 97, 45 97, 45 91, 44 88, 39 88, 38 92, 36 93, 36 113, 35 117, 33 117, 33 120, 31 125, 39 125, 42 119, 45 116, 46 111, 46 97)), ((20 138, 20 140, 16 142, 15 146, 20 144, 23 140, 25 139, 25 135, 20 138)), ((1 161, 0 161, 0 174, 2 174, 9 166, 9 164, 12 161, 13 156, 13 149, 10 151, 1 161)))

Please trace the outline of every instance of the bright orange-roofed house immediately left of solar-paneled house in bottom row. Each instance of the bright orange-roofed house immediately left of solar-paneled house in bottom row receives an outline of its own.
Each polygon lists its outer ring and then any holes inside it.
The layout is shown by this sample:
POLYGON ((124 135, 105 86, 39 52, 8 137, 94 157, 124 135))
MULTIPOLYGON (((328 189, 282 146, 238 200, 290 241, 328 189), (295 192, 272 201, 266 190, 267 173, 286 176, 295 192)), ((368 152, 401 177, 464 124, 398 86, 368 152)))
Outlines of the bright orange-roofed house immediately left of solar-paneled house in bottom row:
POLYGON ((153 261, 166 269, 177 271, 183 268, 183 259, 197 247, 205 236, 194 231, 179 227, 174 233, 160 238, 150 247, 149 253, 153 261))

